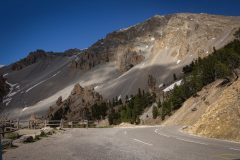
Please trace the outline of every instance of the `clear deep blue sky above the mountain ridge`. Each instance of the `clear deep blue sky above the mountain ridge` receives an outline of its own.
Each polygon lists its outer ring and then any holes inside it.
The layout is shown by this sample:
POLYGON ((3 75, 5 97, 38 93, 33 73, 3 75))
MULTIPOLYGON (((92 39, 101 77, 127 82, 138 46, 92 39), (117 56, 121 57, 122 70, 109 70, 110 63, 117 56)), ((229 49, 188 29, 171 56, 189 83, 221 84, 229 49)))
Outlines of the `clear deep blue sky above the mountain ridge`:
POLYGON ((240 15, 240 0, 0 0, 0 64, 30 51, 86 48, 160 14, 240 15))

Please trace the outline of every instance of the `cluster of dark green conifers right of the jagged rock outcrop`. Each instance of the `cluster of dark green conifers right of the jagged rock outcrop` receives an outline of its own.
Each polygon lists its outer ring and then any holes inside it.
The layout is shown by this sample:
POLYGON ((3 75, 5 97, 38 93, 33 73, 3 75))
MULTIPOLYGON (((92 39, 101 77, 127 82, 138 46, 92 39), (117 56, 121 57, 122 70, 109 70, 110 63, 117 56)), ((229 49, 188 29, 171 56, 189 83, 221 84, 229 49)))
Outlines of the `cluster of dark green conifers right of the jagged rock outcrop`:
POLYGON ((91 117, 93 120, 101 120, 107 116, 110 125, 117 125, 121 122, 139 124, 139 116, 154 101, 154 95, 139 88, 136 95, 126 95, 125 100, 116 97, 112 101, 92 105, 91 117))

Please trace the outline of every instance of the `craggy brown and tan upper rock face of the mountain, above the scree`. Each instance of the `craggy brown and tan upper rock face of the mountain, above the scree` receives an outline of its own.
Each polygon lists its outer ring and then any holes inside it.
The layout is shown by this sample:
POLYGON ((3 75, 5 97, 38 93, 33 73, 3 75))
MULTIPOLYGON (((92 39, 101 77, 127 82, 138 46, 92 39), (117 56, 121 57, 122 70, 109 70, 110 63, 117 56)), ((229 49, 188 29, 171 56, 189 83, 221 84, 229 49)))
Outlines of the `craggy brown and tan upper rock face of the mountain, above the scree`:
MULTIPOLYGON (((143 23, 112 32, 83 51, 73 67, 83 70, 116 61, 125 72, 161 50, 171 49, 179 59, 204 57, 231 40, 240 26, 239 17, 208 14, 154 16, 143 23)), ((178 62, 178 63, 179 63, 178 62)))

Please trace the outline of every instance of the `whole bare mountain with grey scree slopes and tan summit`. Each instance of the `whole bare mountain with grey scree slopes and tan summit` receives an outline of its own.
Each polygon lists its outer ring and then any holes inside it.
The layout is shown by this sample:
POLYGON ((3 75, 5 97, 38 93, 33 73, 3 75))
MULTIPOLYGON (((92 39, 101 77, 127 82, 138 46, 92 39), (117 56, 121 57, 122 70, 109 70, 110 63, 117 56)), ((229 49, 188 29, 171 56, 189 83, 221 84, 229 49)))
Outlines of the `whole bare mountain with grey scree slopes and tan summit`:
POLYGON ((208 14, 154 16, 145 22, 106 35, 85 50, 68 54, 31 53, 0 69, 10 84, 1 105, 9 116, 45 114, 62 96, 67 99, 76 83, 91 86, 103 99, 148 90, 149 75, 156 86, 180 78, 182 68, 233 39, 240 17, 208 14))

